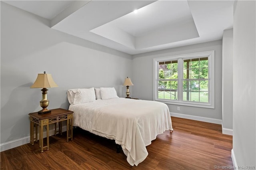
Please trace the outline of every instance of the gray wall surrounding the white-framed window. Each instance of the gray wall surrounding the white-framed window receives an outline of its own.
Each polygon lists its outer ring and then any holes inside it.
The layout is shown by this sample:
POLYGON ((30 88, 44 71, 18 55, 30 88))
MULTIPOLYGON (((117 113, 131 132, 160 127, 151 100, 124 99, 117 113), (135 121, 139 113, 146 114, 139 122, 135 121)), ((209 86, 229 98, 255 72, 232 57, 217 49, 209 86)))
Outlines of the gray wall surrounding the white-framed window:
POLYGON ((134 89, 131 96, 145 100, 153 100, 153 58, 212 50, 215 51, 215 108, 206 109, 180 105, 180 111, 177 111, 177 105, 168 104, 168 106, 172 113, 222 119, 221 40, 133 55, 132 83, 134 84, 134 89))

